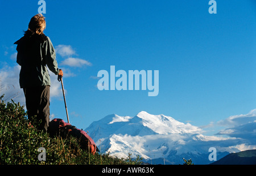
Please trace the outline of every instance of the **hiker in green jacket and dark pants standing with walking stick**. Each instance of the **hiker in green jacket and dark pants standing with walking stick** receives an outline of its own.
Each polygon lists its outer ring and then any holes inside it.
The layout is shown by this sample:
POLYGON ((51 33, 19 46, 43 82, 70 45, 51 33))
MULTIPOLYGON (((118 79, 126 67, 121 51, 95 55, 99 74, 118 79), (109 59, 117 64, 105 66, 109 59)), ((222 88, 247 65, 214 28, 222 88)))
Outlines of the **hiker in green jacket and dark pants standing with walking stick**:
POLYGON ((32 122, 40 121, 39 130, 47 131, 51 85, 47 66, 55 75, 63 76, 63 71, 57 66, 51 40, 43 33, 45 28, 44 16, 33 16, 24 36, 14 44, 17 44, 16 62, 21 66, 19 84, 26 98, 28 119, 32 122))

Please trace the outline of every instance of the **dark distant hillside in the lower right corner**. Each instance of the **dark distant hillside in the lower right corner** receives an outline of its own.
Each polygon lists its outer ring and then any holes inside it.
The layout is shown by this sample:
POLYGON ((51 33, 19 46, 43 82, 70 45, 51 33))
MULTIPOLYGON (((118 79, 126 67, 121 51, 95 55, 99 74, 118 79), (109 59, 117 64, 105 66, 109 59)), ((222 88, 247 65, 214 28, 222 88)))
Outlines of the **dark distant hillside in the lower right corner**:
POLYGON ((212 165, 256 165, 256 150, 230 153, 212 165))

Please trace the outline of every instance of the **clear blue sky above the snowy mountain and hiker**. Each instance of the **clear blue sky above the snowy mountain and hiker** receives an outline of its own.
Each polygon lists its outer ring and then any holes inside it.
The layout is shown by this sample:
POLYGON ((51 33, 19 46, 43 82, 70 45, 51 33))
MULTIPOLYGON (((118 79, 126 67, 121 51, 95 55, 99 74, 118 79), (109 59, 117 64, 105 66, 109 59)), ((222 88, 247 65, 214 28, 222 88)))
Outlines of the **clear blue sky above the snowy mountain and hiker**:
MULTIPOLYGON (((72 125, 86 128, 109 114, 144 110, 209 125, 204 130, 216 133, 222 128, 217 122, 255 109, 256 1, 217 0, 217 14, 209 14, 208 2, 46 0, 44 33, 64 72, 72 125), (99 91, 97 73, 110 73, 112 65, 127 73, 159 70, 158 96, 147 96, 148 90, 99 91)), ((13 43, 39 6, 0 1, 2 92, 18 92, 21 102, 13 43)), ((56 79, 51 75, 51 114, 67 119, 56 79)))

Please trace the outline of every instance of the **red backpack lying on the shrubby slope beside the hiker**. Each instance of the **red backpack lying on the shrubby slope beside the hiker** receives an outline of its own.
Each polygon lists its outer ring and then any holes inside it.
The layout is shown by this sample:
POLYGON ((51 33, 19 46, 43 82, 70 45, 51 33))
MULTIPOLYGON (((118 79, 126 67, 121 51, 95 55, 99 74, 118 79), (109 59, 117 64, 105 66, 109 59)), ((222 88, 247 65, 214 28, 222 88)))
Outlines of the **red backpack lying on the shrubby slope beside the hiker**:
POLYGON ((93 139, 83 130, 72 126, 70 123, 66 123, 63 119, 55 118, 49 122, 48 132, 50 136, 61 136, 66 138, 71 135, 75 137, 83 149, 89 149, 89 152, 95 154, 99 151, 93 139))

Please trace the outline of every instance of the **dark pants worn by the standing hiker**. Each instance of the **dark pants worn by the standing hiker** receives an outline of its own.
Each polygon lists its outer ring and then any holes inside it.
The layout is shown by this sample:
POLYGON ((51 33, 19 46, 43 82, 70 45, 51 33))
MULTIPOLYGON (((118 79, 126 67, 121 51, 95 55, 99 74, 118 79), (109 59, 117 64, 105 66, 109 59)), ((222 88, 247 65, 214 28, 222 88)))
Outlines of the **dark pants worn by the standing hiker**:
POLYGON ((38 129, 44 131, 49 126, 49 90, 49 85, 23 88, 28 120, 40 121, 38 129))

